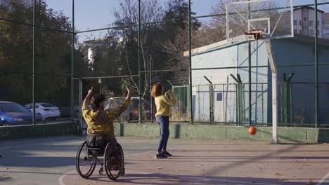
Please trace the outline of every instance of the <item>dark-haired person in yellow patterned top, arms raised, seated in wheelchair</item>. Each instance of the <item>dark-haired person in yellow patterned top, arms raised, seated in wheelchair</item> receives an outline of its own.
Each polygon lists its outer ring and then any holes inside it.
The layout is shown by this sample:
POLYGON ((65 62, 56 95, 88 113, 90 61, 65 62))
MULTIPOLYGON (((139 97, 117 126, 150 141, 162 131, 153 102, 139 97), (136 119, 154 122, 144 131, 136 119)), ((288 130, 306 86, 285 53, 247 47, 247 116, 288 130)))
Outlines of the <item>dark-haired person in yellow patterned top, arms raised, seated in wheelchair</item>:
MULTIPOLYGON (((131 96, 135 90, 134 88, 127 88, 127 91, 126 100, 124 100, 122 105, 115 109, 106 110, 104 110, 105 95, 92 95, 93 88, 88 91, 88 95, 86 95, 82 105, 82 116, 88 125, 86 138, 87 146, 89 148, 101 149, 95 151, 91 150, 91 153, 89 153, 90 155, 103 155, 108 142, 115 140, 113 121, 129 108, 131 96), (91 109, 88 107, 89 100, 91 109)), ((115 151, 115 148, 111 150, 115 151)), ((114 163, 112 164, 113 166, 115 163, 119 162, 113 158, 110 163, 114 163)))

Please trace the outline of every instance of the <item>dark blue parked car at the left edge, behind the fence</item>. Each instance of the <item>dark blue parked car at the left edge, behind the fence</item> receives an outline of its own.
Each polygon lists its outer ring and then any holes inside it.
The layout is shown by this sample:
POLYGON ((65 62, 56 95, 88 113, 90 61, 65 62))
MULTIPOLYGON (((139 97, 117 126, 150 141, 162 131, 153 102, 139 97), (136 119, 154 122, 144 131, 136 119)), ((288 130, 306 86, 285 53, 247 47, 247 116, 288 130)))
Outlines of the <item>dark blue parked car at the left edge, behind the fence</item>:
MULTIPOLYGON (((43 121, 36 115, 36 121, 43 121)), ((0 102, 0 125, 28 125, 33 121, 32 113, 15 102, 0 102)))

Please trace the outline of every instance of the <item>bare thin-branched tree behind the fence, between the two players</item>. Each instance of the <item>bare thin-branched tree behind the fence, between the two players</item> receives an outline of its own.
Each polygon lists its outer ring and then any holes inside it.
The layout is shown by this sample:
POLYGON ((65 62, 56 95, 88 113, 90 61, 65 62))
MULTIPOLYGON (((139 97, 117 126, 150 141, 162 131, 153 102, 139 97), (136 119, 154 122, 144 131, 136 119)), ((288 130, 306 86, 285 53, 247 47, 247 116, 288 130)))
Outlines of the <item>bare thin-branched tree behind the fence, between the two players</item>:
MULTIPOLYGON (((162 20, 162 6, 156 0, 141 1, 141 22, 143 24, 148 22, 154 22, 162 20)), ((138 2, 131 0, 120 1, 120 9, 117 9, 114 13, 115 23, 117 27, 124 25, 134 25, 138 23, 138 2)), ((134 75, 138 74, 138 27, 122 27, 115 30, 116 34, 122 38, 122 44, 118 47, 120 50, 120 75, 128 74, 134 75)), ((141 34, 141 62, 142 70, 150 71, 152 70, 151 64, 154 63, 155 56, 160 50, 157 46, 158 35, 156 34, 160 31, 157 25, 143 25, 143 30, 141 34)), ((129 81, 122 79, 127 85, 134 86, 138 94, 144 97, 148 94, 150 90, 150 73, 143 72, 143 86, 139 87, 138 78, 131 77, 129 81)))

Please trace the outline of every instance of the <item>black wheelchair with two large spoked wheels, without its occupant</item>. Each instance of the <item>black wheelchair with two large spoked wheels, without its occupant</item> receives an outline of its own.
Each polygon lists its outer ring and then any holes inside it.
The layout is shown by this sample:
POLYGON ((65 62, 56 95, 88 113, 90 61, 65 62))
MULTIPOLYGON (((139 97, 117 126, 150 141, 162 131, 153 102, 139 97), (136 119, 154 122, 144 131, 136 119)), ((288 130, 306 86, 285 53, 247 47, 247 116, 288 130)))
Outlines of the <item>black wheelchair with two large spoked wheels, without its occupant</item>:
POLYGON ((79 175, 88 179, 97 164, 101 165, 98 174, 103 174, 105 168, 108 178, 113 181, 124 175, 124 153, 116 139, 108 142, 105 149, 90 148, 86 141, 79 146, 75 158, 75 167, 79 175))

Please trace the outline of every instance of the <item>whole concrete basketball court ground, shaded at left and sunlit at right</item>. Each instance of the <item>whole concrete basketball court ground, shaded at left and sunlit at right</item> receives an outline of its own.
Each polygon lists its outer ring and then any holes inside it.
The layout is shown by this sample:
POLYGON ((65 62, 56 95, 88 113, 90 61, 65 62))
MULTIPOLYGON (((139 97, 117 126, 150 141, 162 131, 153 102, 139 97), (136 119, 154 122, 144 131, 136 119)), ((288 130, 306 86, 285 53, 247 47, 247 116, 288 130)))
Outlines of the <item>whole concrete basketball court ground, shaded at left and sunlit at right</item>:
POLYGON ((155 159, 157 139, 122 137, 126 175, 89 179, 75 170, 84 137, 0 142, 0 184, 329 184, 329 144, 169 140, 167 159, 155 159))

